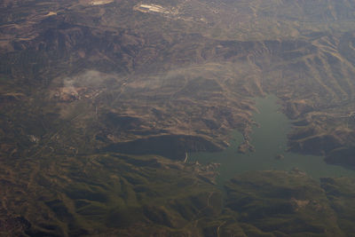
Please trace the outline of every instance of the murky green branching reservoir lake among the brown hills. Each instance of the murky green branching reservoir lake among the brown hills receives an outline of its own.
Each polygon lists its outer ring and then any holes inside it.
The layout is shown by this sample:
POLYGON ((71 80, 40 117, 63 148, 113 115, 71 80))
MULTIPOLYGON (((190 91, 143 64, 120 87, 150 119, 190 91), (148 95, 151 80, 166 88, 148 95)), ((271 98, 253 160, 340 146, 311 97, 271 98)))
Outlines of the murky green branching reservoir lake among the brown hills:
POLYGON ((291 130, 288 117, 280 113, 277 98, 268 95, 256 99, 256 107, 260 113, 253 115, 260 127, 254 127, 251 134, 251 144, 256 151, 239 154, 238 146, 243 137, 238 131, 233 132, 233 139, 225 151, 220 153, 192 153, 188 162, 217 162, 220 163, 217 178, 218 184, 223 184, 236 174, 247 170, 292 170, 297 168, 312 178, 355 176, 355 171, 343 167, 329 165, 323 161, 324 157, 302 155, 286 152, 287 134, 291 130), (285 156, 282 160, 275 159, 278 154, 285 156))

